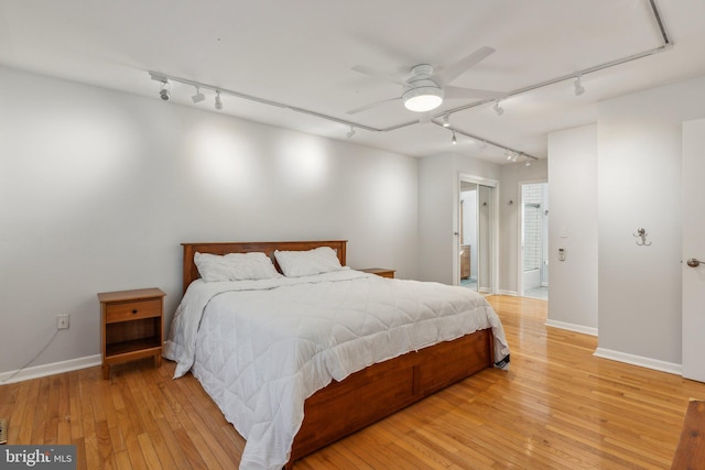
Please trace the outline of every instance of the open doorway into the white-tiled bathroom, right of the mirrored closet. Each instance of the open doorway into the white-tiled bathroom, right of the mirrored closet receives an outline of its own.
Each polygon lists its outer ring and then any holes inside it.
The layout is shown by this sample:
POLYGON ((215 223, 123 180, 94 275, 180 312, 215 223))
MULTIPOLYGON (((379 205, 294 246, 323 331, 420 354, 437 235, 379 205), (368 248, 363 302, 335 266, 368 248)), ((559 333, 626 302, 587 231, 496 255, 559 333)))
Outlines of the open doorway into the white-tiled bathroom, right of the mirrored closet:
POLYGON ((549 184, 521 184, 519 295, 549 298, 549 184))

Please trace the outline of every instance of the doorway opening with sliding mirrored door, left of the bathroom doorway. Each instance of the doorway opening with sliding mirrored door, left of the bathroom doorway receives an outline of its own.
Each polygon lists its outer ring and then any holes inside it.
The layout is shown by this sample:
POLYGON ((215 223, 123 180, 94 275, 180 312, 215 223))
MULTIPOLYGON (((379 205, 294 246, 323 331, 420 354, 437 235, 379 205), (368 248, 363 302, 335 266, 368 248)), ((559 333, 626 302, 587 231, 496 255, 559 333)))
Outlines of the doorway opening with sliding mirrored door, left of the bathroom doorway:
POLYGON ((496 183, 460 175, 457 283, 491 294, 496 272, 496 183))

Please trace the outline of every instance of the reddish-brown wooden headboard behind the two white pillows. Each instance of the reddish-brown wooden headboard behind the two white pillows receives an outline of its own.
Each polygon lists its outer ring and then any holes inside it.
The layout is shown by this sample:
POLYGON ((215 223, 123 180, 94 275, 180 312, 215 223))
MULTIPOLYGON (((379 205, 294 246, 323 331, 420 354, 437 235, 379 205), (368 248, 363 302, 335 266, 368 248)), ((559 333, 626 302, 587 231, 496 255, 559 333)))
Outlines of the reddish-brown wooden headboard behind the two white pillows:
POLYGON ((281 272, 274 251, 306 251, 318 247, 330 247, 338 254, 340 264, 345 266, 345 249, 347 240, 324 240, 324 241, 256 241, 256 242, 215 242, 215 243, 182 243, 184 247, 184 277, 183 291, 186 292, 188 285, 200 277, 194 255, 198 253, 227 254, 248 253, 250 251, 261 251, 272 259, 276 270, 281 272))

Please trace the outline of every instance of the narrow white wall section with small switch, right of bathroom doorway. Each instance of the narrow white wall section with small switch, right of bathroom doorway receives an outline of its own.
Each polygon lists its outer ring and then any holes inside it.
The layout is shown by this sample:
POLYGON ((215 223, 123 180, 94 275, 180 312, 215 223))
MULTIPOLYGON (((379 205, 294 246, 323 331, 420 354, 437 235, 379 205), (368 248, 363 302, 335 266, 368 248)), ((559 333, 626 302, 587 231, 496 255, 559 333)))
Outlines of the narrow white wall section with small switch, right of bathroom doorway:
POLYGON ((549 134, 549 182, 547 324, 596 335, 596 124, 549 134), (565 261, 558 261, 560 248, 565 261))

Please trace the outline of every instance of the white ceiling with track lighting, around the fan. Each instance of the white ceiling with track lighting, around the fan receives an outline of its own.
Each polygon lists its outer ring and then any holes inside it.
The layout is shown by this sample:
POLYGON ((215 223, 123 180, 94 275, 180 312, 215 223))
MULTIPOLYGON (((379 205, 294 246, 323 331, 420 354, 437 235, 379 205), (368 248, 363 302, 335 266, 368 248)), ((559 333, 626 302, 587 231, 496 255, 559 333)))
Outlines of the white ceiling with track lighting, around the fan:
MULTIPOLYGON (((352 141, 414 156, 447 152, 506 163, 505 151, 473 143, 393 101, 401 87, 351 69, 405 78, 416 64, 447 66, 481 46, 496 50, 453 83, 500 90, 568 77, 501 102, 455 112, 452 128, 536 156, 547 132, 596 121, 599 100, 705 75, 705 0, 657 0, 673 47, 571 76, 664 46, 650 0, 0 0, 0 64, 159 100, 160 72, 303 108, 383 131, 352 141)), ((347 124, 291 109, 172 84, 164 106, 189 106, 345 140, 347 124)), ((478 100, 446 100, 434 116, 478 100)), ((654 110, 658 112, 658 110, 654 110)), ((436 119, 440 122, 440 119, 436 119)))

